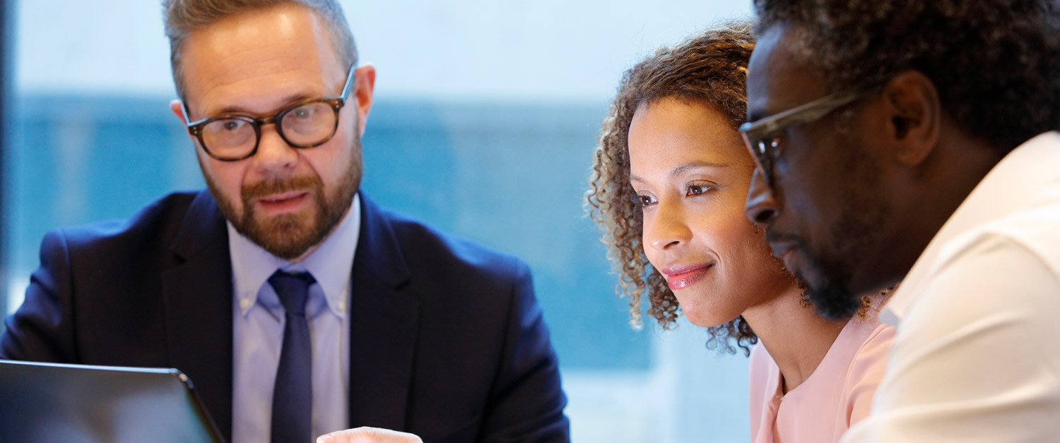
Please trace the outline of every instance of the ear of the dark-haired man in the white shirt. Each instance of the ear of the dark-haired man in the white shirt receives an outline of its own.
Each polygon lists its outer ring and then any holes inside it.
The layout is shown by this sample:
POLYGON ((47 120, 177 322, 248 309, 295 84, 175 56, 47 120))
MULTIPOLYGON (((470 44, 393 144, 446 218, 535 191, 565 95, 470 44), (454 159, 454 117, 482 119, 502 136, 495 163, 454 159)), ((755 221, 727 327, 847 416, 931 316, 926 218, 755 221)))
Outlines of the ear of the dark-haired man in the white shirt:
POLYGON ((919 71, 905 71, 887 81, 882 95, 889 116, 887 135, 899 147, 896 160, 920 164, 938 144, 942 123, 935 84, 919 71))

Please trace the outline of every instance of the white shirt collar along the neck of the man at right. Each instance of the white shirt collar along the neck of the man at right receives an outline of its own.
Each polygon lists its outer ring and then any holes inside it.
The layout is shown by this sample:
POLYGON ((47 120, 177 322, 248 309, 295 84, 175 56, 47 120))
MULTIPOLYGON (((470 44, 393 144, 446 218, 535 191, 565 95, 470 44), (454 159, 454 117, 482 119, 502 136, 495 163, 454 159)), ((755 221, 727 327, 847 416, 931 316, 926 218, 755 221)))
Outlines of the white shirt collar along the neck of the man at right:
POLYGON ((920 292, 918 287, 933 273, 936 259, 951 240, 1025 207, 1035 200, 1036 190, 1060 183, 1057 165, 1060 165, 1060 133, 1053 131, 1036 135, 1005 155, 928 243, 884 304, 880 320, 898 325, 920 292))

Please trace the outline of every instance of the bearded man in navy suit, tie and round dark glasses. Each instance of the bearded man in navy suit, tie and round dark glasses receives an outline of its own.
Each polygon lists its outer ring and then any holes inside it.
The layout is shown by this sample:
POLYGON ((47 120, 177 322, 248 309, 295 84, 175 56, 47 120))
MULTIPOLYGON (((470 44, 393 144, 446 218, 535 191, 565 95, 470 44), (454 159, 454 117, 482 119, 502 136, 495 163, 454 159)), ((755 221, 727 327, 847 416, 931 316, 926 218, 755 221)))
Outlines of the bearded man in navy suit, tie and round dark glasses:
POLYGON ((209 190, 49 233, 0 358, 177 368, 234 443, 568 441, 526 264, 359 190, 375 69, 338 3, 163 11, 209 190))

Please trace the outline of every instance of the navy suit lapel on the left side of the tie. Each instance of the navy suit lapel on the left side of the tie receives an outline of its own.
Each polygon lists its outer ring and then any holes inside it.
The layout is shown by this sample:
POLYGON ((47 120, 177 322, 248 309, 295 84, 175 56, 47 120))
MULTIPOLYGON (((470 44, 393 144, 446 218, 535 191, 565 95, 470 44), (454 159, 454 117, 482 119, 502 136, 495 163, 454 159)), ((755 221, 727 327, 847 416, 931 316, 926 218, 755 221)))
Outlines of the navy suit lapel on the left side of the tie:
POLYGON ((226 439, 232 433, 232 270, 228 232, 213 198, 192 201, 162 273, 170 363, 194 383, 226 439))

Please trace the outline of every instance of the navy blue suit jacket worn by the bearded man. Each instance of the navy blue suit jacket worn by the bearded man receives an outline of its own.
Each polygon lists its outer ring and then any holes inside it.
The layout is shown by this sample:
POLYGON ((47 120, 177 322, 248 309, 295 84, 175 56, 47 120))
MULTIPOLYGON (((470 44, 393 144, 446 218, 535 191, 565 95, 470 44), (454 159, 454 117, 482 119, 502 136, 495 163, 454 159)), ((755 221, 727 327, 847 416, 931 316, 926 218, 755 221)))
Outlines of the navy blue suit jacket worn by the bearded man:
MULTIPOLYGON (((361 193, 350 423, 431 442, 565 442, 555 354, 519 260, 381 210, 361 193)), ((209 192, 50 232, 0 357, 172 367, 231 436, 232 272, 209 192)))

